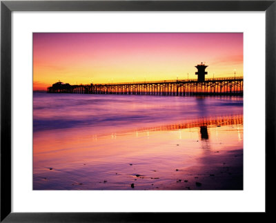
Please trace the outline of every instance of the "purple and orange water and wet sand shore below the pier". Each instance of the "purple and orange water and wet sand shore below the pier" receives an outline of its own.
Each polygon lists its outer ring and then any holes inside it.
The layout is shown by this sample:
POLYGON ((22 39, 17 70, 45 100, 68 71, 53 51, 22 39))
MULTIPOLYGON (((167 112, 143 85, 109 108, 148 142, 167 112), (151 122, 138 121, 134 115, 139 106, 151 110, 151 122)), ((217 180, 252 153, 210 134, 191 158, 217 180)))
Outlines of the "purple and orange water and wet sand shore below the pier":
POLYGON ((34 93, 33 131, 34 190, 242 189, 242 97, 34 93))

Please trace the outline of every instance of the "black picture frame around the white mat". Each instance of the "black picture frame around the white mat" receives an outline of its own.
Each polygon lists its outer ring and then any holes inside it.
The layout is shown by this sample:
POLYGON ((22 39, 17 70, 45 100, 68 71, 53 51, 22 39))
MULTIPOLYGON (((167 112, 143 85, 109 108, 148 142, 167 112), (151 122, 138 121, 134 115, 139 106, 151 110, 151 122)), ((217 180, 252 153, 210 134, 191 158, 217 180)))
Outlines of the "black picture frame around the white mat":
MULTIPOLYGON (((13 11, 265 11, 266 13, 266 211, 275 188, 276 0, 273 1, 1 1, 1 222, 164 222, 217 213, 13 213, 11 212, 11 13, 13 11), (185 215, 185 216, 184 216, 185 215)), ((257 176, 256 176, 257 180, 257 176)), ((28 202, 28 201, 26 201, 28 202)), ((237 201, 238 202, 238 201, 237 201)), ((130 204, 131 205, 131 204, 130 204)), ((223 204, 222 204, 223 205, 223 204)), ((235 220, 233 213, 223 213, 235 220)), ((240 215, 248 213, 236 213, 240 215)), ((226 217, 224 216, 224 217, 226 217)), ((214 217, 214 216, 213 216, 214 217)), ((212 217, 212 218, 213 218, 212 217)), ((218 216, 216 216, 218 217, 218 216)), ((197 218, 195 218, 196 220, 197 218)), ((206 219, 207 220, 207 219, 206 219)))

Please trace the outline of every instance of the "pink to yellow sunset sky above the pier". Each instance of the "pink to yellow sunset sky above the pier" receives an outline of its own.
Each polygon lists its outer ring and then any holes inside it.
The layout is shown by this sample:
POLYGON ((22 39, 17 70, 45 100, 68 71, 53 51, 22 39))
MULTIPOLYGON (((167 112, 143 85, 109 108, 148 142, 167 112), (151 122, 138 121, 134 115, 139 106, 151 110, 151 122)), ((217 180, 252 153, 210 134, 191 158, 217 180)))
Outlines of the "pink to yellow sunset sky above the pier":
POLYGON ((33 87, 243 75, 243 33, 34 33, 33 87))

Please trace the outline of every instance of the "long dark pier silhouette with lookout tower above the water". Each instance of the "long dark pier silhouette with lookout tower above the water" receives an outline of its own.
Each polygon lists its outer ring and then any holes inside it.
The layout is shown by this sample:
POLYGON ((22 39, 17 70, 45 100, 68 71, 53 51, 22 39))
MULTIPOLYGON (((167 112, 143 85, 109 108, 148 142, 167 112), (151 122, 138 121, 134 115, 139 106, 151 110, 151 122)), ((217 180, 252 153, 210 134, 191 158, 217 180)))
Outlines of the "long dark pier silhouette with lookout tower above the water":
POLYGON ((138 81, 111 84, 70 85, 61 81, 47 89, 48 93, 111 94, 111 95, 243 95, 243 77, 205 78, 205 64, 195 66, 197 79, 138 81))

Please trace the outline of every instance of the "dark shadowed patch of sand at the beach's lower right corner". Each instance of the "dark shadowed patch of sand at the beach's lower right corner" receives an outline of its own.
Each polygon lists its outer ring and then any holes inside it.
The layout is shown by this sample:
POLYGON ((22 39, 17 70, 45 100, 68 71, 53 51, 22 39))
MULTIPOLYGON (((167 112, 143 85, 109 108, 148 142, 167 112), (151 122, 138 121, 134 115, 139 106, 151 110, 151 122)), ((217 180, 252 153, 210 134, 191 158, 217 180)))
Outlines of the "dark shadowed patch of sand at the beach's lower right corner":
POLYGON ((230 150, 199 158, 198 166, 180 168, 179 180, 165 186, 168 190, 242 190, 243 150, 230 150))

